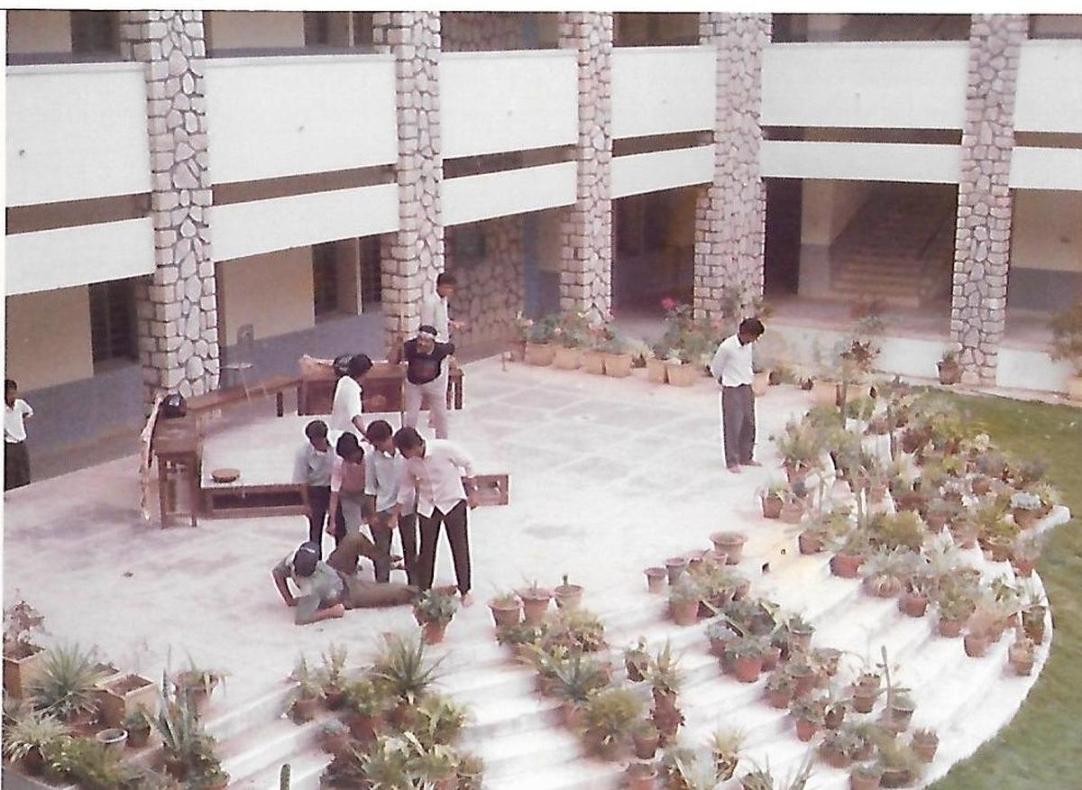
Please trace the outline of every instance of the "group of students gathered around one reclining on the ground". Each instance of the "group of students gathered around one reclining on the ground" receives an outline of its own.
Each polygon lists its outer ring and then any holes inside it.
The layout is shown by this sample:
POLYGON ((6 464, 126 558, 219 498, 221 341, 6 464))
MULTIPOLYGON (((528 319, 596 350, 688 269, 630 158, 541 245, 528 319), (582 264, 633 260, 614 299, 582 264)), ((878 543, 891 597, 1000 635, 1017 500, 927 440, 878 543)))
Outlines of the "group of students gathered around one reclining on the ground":
MULTIPOLYGON (((417 335, 391 355, 392 361, 404 360, 407 366, 401 429, 394 432, 386 420, 365 423, 364 380, 372 360, 364 354, 351 357, 341 371, 330 424, 313 420, 305 426, 293 479, 305 486, 308 540, 273 571, 282 601, 296 608, 298 624, 341 617, 351 608, 406 604, 431 589, 441 528, 451 547, 462 603, 473 603, 469 535, 469 510, 476 506, 473 460, 447 438, 447 360, 454 353, 448 332, 461 326, 447 317, 454 285, 450 275, 439 276, 434 298, 422 303, 417 335), (435 439, 417 431, 425 395, 435 439), (371 537, 365 534, 366 524, 371 537), (326 561, 325 531, 335 543, 326 561), (395 532, 400 557, 391 554, 395 532), (374 581, 357 575, 362 556, 372 561, 374 581), (391 581, 395 569, 405 571, 406 583, 391 581)), ((377 397, 369 397, 368 404, 382 406, 377 397)))

